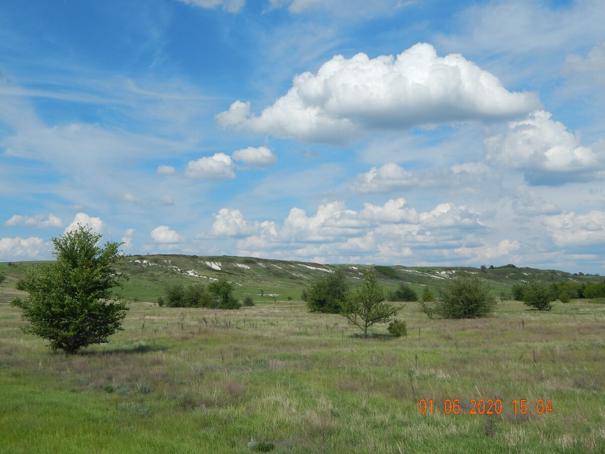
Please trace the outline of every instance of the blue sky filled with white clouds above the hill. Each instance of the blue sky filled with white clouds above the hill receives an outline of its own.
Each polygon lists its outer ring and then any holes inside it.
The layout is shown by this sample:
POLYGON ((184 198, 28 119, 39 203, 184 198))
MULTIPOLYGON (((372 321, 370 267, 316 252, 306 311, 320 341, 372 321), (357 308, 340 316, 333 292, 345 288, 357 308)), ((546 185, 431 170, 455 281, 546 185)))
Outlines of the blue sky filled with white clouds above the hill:
POLYGON ((0 261, 605 274, 602 0, 0 2, 0 261))

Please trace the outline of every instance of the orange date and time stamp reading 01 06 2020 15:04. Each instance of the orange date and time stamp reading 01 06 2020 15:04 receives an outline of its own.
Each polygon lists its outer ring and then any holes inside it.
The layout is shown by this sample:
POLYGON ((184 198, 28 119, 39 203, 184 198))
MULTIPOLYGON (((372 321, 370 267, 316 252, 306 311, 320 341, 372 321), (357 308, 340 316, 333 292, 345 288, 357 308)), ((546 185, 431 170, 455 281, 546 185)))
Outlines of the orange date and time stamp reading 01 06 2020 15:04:
MULTIPOLYGON (((460 399, 443 401, 443 411, 434 405, 433 399, 420 399, 418 411, 420 415, 500 415, 504 404, 502 399, 471 399, 468 407, 460 407, 460 399)), ((543 415, 552 413, 552 399, 515 399, 511 403, 515 415, 543 415)))

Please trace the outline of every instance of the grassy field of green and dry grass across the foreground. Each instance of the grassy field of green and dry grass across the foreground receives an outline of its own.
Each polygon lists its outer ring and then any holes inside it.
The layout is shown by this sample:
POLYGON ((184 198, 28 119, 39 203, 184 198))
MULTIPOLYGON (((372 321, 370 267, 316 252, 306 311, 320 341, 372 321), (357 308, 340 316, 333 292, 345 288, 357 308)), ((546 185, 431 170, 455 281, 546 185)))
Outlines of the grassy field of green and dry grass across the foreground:
POLYGON ((367 340, 297 301, 139 302, 110 343, 65 356, 20 331, 14 283, 0 287, 1 453, 605 452, 602 300, 505 301, 480 320, 407 303, 408 337, 367 340), (490 398, 502 414, 443 414, 490 398), (515 399, 552 413, 515 415, 515 399))

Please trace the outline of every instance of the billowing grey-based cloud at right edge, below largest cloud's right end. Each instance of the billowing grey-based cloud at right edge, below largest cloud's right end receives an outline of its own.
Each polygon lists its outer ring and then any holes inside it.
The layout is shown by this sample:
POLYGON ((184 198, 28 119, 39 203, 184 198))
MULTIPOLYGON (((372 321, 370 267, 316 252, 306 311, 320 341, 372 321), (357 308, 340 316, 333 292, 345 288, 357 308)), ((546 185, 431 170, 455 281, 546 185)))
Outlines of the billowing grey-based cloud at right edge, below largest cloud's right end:
POLYGON ((505 134, 486 139, 488 159, 524 171, 532 184, 577 180, 603 168, 605 153, 581 146, 580 139, 551 116, 538 110, 525 120, 509 122, 505 134))

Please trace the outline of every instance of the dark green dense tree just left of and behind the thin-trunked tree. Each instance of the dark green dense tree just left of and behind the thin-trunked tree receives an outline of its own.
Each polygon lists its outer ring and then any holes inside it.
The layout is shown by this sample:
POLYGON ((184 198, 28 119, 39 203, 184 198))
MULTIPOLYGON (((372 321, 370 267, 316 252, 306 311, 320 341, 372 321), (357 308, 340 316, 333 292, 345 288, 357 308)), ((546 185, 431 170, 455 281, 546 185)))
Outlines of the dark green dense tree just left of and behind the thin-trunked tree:
POLYGON ((307 303, 309 312, 338 314, 341 312, 341 303, 347 297, 349 288, 347 276, 341 270, 336 270, 311 284, 301 296, 307 303))

